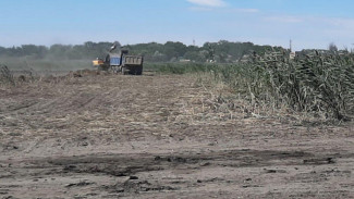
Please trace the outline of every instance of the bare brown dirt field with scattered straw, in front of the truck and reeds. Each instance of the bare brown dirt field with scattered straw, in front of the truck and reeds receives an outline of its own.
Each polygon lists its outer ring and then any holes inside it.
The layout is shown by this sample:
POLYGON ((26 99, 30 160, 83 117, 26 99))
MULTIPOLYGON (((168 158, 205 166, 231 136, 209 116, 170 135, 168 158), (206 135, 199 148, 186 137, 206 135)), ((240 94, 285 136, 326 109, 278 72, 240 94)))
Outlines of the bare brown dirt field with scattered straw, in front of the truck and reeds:
POLYGON ((0 87, 0 198, 354 198, 353 124, 255 116, 195 83, 0 87))

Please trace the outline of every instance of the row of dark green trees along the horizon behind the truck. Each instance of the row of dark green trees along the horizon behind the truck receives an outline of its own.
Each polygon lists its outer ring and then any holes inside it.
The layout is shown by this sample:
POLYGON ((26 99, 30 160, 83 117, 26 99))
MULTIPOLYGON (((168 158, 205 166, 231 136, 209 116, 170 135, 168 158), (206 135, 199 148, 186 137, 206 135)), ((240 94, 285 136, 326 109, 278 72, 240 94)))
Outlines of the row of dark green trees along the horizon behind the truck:
MULTIPOLYGON (((83 45, 52 45, 50 47, 36 45, 22 45, 20 47, 0 47, 0 58, 28 59, 96 59, 105 58, 113 42, 87 41, 83 45)), ((281 47, 258 46, 253 42, 231 42, 220 40, 206 42, 202 47, 186 46, 182 42, 168 41, 166 43, 148 42, 126 45, 122 47, 130 50, 131 54, 144 55, 147 62, 219 62, 232 63, 242 59, 251 51, 258 54, 281 47)))

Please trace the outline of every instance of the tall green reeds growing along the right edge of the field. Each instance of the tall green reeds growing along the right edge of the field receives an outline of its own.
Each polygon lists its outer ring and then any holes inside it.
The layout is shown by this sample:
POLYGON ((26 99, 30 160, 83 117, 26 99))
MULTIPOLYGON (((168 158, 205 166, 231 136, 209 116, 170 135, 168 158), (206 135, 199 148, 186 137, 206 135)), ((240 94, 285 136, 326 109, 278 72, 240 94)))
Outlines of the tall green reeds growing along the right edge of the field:
POLYGON ((225 85, 248 101, 251 110, 285 109, 340 121, 354 115, 352 53, 314 51, 292 60, 286 52, 268 52, 248 63, 168 63, 150 69, 168 74, 206 74, 202 80, 225 85))

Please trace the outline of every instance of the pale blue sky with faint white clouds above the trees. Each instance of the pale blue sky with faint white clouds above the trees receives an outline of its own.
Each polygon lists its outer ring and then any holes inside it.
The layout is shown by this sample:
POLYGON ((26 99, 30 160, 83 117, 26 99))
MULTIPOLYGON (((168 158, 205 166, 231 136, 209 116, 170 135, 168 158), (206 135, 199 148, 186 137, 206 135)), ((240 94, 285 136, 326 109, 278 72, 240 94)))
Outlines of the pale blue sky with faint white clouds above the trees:
POLYGON ((0 0, 0 46, 219 40, 354 48, 353 0, 0 0))

